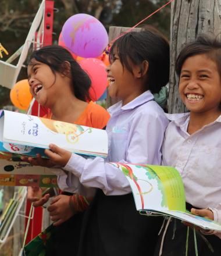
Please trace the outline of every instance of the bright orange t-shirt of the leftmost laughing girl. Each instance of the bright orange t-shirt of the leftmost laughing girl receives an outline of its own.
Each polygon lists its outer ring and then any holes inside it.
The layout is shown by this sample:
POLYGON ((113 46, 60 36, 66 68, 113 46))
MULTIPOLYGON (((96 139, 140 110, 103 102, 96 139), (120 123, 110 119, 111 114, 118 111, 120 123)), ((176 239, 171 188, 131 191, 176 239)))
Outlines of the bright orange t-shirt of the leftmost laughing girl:
MULTIPOLYGON (((52 113, 49 112, 44 117, 51 119, 52 113)), ((103 129, 108 123, 109 118, 110 114, 105 108, 90 101, 74 124, 103 129)))

